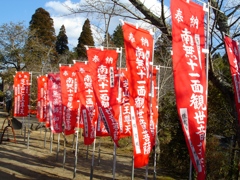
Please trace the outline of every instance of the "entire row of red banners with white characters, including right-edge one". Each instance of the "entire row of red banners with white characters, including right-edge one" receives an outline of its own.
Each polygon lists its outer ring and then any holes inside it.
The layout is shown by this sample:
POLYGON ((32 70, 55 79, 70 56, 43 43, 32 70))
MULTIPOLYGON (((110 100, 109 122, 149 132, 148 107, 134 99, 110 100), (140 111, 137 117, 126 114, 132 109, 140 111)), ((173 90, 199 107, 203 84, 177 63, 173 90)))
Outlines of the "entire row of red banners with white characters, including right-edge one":
MULTIPOLYGON (((205 12, 194 2, 175 0, 171 14, 177 109, 190 158, 202 180, 207 124, 205 12)), ((132 136, 134 165, 143 167, 154 146, 158 119, 156 70, 151 66, 153 36, 128 23, 122 29, 128 70, 117 70, 115 50, 87 49, 87 63, 61 66, 60 73, 38 78, 37 115, 54 133, 68 135, 76 127, 83 128, 85 144, 96 136, 111 136, 118 145, 120 138, 132 136)), ((235 41, 226 37, 225 44, 240 119, 240 53, 235 41)), ((29 74, 17 73, 15 81, 14 115, 26 116, 23 104, 28 104, 29 74)))

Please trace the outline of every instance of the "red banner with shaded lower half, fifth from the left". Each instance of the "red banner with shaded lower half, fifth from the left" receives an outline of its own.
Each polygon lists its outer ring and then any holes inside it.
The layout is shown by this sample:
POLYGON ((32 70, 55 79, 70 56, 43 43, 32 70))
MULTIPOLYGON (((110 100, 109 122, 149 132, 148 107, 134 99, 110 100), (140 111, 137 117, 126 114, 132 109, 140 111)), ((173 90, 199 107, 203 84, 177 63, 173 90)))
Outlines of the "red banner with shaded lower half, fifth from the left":
POLYGON ((77 69, 78 93, 81 102, 81 115, 83 120, 84 144, 90 145, 95 139, 95 127, 97 123, 96 99, 93 92, 92 76, 85 63, 74 64, 77 69))

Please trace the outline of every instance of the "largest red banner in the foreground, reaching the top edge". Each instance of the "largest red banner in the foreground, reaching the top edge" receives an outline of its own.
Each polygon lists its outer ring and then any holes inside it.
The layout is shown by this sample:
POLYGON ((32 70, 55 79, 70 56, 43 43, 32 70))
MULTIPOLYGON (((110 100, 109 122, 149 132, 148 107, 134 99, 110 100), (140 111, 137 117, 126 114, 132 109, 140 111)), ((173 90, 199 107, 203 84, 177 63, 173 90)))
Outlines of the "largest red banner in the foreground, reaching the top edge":
POLYGON ((203 7, 190 1, 172 0, 173 75, 178 114, 190 158, 205 179, 207 125, 206 63, 203 48, 203 7))

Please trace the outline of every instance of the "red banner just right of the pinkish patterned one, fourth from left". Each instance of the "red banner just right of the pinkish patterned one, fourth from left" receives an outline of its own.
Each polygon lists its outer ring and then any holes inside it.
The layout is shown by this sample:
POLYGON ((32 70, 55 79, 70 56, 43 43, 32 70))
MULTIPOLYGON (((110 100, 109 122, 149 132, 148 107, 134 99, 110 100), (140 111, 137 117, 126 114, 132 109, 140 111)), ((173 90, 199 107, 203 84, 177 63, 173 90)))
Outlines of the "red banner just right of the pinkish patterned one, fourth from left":
POLYGON ((61 66, 61 92, 63 103, 64 133, 74 134, 77 121, 80 119, 78 112, 79 99, 77 97, 77 75, 75 67, 61 66))

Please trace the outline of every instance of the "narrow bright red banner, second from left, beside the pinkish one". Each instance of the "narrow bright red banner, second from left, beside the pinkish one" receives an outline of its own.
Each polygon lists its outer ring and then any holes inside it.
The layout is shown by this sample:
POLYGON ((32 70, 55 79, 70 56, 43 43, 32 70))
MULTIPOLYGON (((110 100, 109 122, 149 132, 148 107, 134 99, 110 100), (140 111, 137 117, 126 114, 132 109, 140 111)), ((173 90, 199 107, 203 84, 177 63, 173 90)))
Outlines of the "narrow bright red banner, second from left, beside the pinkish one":
POLYGON ((47 76, 40 76, 37 79, 38 84, 38 101, 37 101, 37 118, 39 122, 46 122, 47 118, 47 76))

